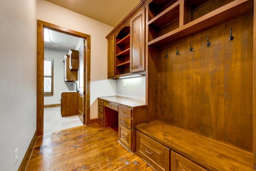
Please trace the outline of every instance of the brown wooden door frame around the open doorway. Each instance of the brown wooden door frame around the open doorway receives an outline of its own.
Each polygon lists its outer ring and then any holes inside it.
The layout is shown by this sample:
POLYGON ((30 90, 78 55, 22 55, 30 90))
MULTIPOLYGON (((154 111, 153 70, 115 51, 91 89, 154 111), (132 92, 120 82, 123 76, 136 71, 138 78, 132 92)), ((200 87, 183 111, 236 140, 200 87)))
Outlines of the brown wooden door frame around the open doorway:
POLYGON ((36 129, 37 134, 44 134, 44 28, 76 36, 86 40, 85 49, 85 80, 84 80, 84 115, 85 125, 90 123, 90 61, 91 61, 91 36, 62 26, 57 26, 42 20, 37 20, 37 93, 36 93, 36 129))

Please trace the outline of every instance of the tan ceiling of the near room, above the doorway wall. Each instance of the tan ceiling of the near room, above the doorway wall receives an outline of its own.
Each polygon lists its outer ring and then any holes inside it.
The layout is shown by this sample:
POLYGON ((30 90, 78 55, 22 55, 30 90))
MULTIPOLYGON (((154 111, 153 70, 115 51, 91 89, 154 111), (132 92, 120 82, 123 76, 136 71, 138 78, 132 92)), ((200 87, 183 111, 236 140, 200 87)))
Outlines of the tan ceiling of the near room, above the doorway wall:
POLYGON ((140 0, 47 0, 110 26, 117 26, 140 0))

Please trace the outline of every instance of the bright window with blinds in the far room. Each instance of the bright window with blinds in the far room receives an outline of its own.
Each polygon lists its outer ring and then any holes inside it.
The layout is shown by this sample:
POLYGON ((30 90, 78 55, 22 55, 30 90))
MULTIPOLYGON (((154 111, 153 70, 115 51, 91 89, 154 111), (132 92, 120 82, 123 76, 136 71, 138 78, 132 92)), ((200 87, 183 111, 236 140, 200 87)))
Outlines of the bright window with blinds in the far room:
POLYGON ((44 95, 53 95, 53 59, 44 58, 44 95))

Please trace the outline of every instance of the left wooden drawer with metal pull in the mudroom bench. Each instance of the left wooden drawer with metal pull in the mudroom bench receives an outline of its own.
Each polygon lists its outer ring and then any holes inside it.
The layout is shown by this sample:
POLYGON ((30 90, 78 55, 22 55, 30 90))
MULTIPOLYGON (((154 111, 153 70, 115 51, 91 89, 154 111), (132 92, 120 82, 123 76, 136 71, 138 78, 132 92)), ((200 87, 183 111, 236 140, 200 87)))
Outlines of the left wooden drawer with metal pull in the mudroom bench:
POLYGON ((156 170, 170 170, 170 149, 136 131, 137 154, 156 170))

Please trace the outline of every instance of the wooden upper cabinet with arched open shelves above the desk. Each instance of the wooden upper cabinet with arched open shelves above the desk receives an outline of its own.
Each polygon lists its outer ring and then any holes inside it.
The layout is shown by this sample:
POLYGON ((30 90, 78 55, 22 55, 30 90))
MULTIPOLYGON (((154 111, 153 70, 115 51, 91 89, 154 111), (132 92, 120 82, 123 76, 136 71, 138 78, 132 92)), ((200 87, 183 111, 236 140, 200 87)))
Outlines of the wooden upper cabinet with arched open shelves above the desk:
POLYGON ((141 2, 106 38, 108 79, 145 74, 144 3, 141 2))

